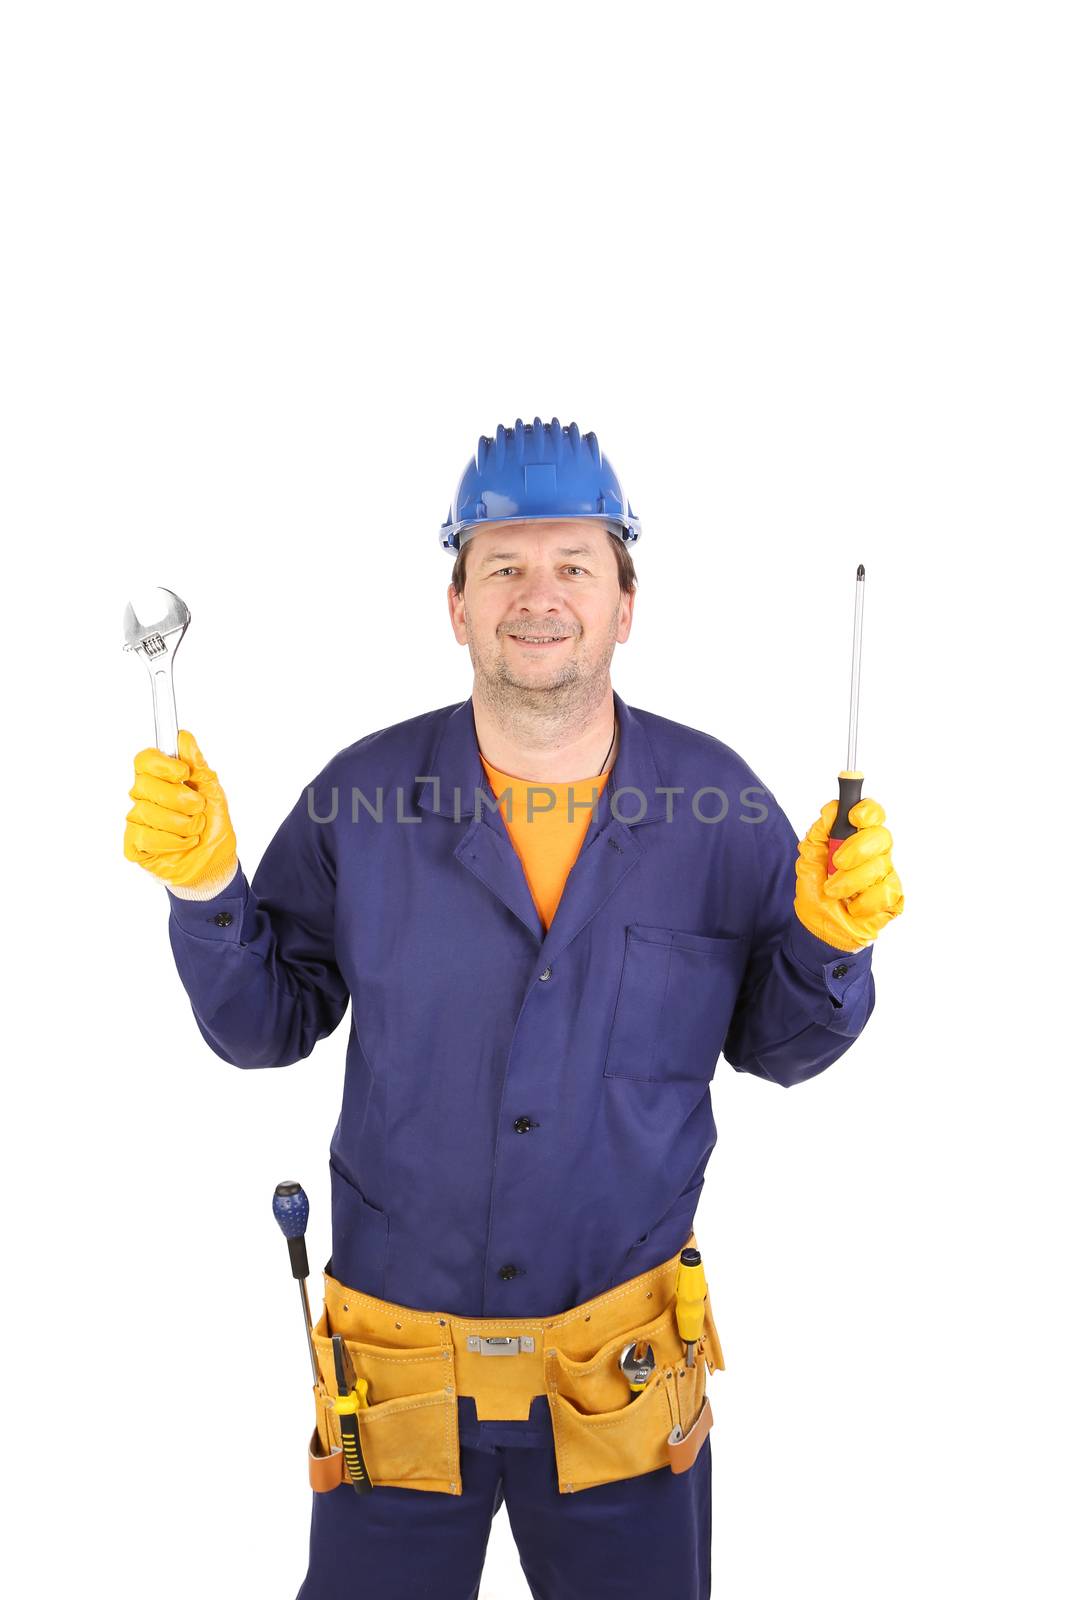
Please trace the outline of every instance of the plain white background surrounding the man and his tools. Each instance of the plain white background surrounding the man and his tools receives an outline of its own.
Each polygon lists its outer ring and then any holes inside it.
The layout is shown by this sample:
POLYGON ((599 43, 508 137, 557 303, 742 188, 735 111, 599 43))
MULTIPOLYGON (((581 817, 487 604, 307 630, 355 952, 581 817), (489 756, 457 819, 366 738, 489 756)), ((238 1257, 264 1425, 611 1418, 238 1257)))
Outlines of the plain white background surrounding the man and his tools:
MULTIPOLYGON (((645 523, 614 686, 800 832, 869 571, 907 910, 846 1058, 713 1083, 715 1595, 1064 1592, 1065 67, 1017 0, 5 8, 11 1592, 306 1568, 270 1195, 322 1267, 346 1026, 277 1072, 197 1032, 122 856, 123 603, 190 603, 253 869, 334 750, 467 696, 437 528, 534 413, 645 523)), ((483 1600, 525 1594, 499 1515, 483 1600)))

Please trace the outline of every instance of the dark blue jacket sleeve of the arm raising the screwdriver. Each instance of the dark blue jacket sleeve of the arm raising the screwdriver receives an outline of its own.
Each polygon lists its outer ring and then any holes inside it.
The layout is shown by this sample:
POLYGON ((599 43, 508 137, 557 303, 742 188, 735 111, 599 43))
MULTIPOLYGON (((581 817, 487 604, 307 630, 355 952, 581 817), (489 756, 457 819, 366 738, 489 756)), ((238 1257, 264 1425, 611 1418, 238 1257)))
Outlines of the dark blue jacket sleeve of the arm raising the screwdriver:
POLYGON ((723 1054, 739 1072, 789 1086, 845 1054, 873 1011, 875 981, 870 946, 838 950, 797 917, 797 834, 771 794, 768 805, 768 818, 749 824, 760 893, 723 1054))

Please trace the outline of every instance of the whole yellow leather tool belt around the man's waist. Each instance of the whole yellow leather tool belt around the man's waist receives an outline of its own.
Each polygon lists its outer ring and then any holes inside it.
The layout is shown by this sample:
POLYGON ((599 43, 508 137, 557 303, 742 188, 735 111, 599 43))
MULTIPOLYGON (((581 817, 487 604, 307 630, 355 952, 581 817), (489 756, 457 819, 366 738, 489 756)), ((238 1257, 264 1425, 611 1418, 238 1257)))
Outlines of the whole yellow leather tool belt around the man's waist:
MULTIPOLYGON (((696 1243, 689 1235, 686 1245, 696 1243)), ((675 1322, 678 1254, 553 1317, 453 1317, 373 1299, 328 1272, 314 1330, 320 1382, 309 1446, 312 1488, 350 1483, 333 1402, 331 1336, 341 1334, 368 1405, 358 1410, 371 1483, 461 1494, 458 1395, 478 1419, 522 1421, 547 1395, 561 1494, 640 1477, 685 1472, 712 1426, 707 1374, 723 1352, 704 1301, 704 1331, 685 1365, 675 1322), (632 1395, 619 1354, 648 1339, 656 1366, 632 1395)))

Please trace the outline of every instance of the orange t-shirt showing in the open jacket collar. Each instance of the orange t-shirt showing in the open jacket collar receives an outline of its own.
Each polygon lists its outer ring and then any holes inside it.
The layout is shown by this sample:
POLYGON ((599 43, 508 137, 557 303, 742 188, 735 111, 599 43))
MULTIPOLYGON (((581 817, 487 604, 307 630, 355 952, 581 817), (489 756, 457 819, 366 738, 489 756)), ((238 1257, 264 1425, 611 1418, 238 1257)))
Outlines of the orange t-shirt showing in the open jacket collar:
POLYGON ((506 789, 512 792, 510 816, 507 802, 502 800, 501 819, 523 864, 530 893, 547 933, 563 896, 566 875, 577 861, 577 853, 582 848, 585 829, 592 818, 592 803, 608 782, 611 768, 597 778, 576 778, 565 784, 545 784, 526 778, 512 778, 510 773, 501 773, 496 766, 490 766, 480 750, 478 755, 482 757, 485 774, 496 798, 499 800, 506 789), (534 794, 528 800, 531 789, 534 794), (571 819, 566 814, 568 789, 573 795, 571 810, 574 816, 571 819), (552 802, 549 795, 553 797, 552 802), (539 810, 539 806, 545 810, 539 810))

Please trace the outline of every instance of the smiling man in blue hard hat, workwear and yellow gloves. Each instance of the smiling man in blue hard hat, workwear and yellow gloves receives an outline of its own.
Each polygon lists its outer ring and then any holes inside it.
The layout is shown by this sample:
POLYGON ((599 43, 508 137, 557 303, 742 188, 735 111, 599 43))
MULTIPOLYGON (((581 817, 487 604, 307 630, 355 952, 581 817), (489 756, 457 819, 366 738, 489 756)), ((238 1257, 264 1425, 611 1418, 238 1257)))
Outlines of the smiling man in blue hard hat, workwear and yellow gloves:
POLYGON ((733 750, 613 691, 638 534, 593 434, 483 437, 440 534, 470 699, 334 757, 251 886, 192 736, 134 763, 126 854, 211 1048, 298 1061, 352 998, 302 1600, 472 1600, 502 1502, 537 1597, 710 1592, 721 1350, 675 1309, 709 1083, 837 1061, 902 896, 873 800, 827 877, 835 802, 798 853, 733 750), (371 1493, 326 1488, 331 1334, 371 1493))

